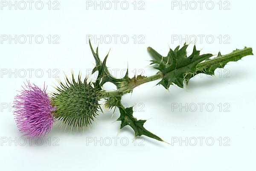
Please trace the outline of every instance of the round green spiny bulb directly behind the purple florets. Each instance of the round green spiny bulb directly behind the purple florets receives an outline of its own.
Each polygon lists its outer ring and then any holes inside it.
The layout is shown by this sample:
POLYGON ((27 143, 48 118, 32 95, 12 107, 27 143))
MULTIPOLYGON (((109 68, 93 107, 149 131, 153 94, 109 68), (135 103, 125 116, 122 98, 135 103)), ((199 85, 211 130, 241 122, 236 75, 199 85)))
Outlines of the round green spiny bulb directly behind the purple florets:
POLYGON ((52 106, 56 107, 53 114, 55 120, 62 120, 77 129, 87 127, 94 121, 100 109, 99 91, 87 83, 87 78, 82 82, 79 74, 76 82, 72 74, 72 80, 66 77, 66 83, 60 82, 56 90, 52 97, 52 106))

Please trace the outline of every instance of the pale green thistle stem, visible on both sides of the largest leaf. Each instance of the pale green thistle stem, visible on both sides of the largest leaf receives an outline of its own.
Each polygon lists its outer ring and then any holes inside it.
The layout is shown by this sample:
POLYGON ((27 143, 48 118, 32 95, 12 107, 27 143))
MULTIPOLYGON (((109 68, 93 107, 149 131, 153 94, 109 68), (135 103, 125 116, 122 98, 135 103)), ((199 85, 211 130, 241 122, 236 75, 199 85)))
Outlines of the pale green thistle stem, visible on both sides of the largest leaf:
MULTIPOLYGON (((252 48, 244 48, 241 50, 236 50, 231 52, 230 54, 226 54, 220 57, 215 57, 211 60, 207 60, 205 62, 199 63, 197 65, 197 71, 203 70, 205 68, 209 68, 210 66, 213 66, 215 64, 221 63, 221 62, 229 62, 229 61, 236 61, 236 59, 241 59, 241 57, 247 56, 247 55, 252 55, 252 48)), ((154 80, 158 80, 160 78, 162 78, 164 76, 163 73, 158 72, 155 75, 149 76, 149 77, 145 77, 142 78, 140 80, 134 80, 131 83, 129 83, 128 85, 126 85, 123 88, 119 88, 116 91, 101 91, 101 98, 107 98, 107 97, 115 97, 115 96, 122 96, 126 93, 130 93, 135 87, 144 84, 144 83, 148 83, 154 80)))

